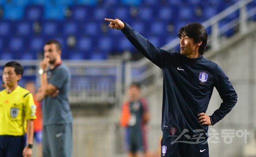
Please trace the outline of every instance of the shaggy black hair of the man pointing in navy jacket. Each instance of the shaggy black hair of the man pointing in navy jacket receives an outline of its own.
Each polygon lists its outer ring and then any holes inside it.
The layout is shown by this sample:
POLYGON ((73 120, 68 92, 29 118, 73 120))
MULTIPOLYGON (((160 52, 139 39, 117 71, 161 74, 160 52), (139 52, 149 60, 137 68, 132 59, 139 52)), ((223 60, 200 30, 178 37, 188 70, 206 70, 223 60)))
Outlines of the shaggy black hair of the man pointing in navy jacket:
POLYGON ((181 38, 182 33, 193 38, 196 43, 202 41, 202 44, 199 47, 199 54, 203 55, 208 37, 205 27, 198 22, 189 22, 187 25, 180 28, 178 32, 179 38, 181 38))

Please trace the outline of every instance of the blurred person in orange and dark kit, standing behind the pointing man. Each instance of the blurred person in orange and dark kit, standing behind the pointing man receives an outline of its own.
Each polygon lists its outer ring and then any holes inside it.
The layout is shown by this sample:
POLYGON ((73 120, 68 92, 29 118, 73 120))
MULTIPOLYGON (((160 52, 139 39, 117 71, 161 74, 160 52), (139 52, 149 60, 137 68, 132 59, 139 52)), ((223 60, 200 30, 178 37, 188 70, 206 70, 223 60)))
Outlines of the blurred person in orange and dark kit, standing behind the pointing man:
POLYGON ((139 83, 132 83, 127 93, 129 98, 122 104, 121 126, 125 127, 128 156, 144 156, 148 149, 145 125, 150 118, 148 103, 141 95, 139 83))

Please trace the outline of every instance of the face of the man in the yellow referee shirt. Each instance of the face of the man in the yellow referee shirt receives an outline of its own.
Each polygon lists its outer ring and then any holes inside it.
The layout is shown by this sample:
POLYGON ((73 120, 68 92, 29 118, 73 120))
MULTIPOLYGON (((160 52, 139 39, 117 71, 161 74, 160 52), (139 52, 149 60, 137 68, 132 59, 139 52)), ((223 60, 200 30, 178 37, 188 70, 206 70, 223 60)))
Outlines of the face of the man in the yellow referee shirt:
POLYGON ((21 74, 16 74, 14 67, 5 67, 3 71, 3 81, 5 86, 13 86, 21 79, 21 74))

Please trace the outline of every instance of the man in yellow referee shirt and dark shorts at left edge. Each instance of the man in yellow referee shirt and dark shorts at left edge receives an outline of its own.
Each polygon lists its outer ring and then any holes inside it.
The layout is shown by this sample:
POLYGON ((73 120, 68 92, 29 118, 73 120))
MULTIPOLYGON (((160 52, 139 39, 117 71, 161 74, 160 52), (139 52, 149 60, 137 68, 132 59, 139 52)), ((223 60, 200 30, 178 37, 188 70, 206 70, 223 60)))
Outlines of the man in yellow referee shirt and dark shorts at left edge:
POLYGON ((16 61, 4 66, 5 89, 0 91, 0 156, 32 155, 36 106, 32 93, 18 85, 23 71, 23 66, 16 61))

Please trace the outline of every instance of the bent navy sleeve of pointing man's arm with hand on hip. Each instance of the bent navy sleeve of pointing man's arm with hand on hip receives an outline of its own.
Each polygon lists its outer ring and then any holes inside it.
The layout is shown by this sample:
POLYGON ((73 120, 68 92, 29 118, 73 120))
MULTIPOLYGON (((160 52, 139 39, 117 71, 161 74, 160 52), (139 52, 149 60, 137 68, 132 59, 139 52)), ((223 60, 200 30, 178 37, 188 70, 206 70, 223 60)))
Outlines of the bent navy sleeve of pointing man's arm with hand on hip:
POLYGON ((220 107, 215 110, 210 116, 212 125, 214 125, 216 122, 221 120, 227 113, 229 113, 237 102, 237 94, 234 87, 230 83, 226 74, 218 65, 216 67, 215 87, 222 99, 222 103, 220 104, 220 107))

